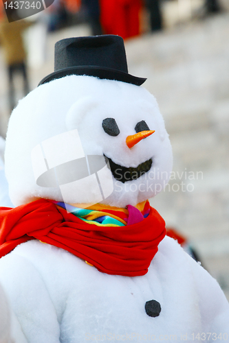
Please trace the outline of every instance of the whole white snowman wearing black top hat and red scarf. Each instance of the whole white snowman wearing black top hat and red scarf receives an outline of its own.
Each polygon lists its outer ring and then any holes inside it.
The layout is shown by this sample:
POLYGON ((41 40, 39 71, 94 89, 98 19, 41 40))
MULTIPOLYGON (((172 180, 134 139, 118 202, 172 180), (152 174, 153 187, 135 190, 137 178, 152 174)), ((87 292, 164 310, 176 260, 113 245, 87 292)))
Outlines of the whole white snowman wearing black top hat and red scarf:
POLYGON ((67 38, 10 117, 0 282, 15 343, 229 341, 217 281, 149 206, 173 158, 144 81, 119 36, 67 38))

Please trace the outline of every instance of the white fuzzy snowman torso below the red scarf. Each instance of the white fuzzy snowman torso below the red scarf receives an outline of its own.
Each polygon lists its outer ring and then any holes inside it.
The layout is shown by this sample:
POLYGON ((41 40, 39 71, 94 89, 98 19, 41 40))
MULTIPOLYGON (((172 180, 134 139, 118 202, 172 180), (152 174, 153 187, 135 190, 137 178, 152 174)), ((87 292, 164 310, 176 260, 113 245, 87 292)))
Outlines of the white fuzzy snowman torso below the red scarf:
POLYGON ((171 335, 193 342, 192 334, 207 332, 229 337, 229 306, 219 285, 169 237, 144 276, 104 274, 61 248, 29 241, 0 260, 0 281, 30 343, 126 334, 133 342, 146 335, 155 342, 171 335), (147 316, 148 300, 160 303, 157 318, 147 316))

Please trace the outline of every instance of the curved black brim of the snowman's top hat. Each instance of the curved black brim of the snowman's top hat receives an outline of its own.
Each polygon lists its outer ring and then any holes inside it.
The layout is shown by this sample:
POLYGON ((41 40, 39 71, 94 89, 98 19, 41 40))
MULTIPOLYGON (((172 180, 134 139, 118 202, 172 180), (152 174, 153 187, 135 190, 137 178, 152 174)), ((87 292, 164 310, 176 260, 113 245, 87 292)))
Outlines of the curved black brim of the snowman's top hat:
POLYGON ((87 75, 87 76, 94 76, 100 79, 107 79, 107 80, 116 80, 127 82, 129 84, 135 84, 136 86, 140 86, 143 84, 147 79, 146 78, 137 78, 129 73, 124 73, 124 71, 118 71, 116 69, 109 69, 106 67, 96 67, 96 66, 87 66, 87 67, 69 67, 65 69, 60 69, 58 71, 54 71, 53 73, 45 76, 39 82, 39 86, 41 84, 45 84, 52 80, 64 78, 67 75, 87 75))

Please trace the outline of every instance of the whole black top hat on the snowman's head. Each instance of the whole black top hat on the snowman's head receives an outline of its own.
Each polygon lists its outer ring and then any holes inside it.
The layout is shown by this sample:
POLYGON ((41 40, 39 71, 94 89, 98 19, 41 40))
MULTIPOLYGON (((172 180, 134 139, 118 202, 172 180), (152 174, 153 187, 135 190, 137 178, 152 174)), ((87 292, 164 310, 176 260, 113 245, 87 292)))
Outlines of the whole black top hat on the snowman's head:
POLYGON ((89 75, 137 86, 146 80, 128 73, 123 39, 113 35, 59 40, 55 45, 54 73, 39 85, 67 75, 89 75))

